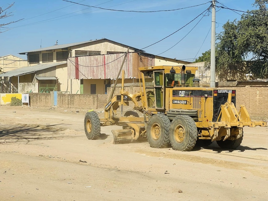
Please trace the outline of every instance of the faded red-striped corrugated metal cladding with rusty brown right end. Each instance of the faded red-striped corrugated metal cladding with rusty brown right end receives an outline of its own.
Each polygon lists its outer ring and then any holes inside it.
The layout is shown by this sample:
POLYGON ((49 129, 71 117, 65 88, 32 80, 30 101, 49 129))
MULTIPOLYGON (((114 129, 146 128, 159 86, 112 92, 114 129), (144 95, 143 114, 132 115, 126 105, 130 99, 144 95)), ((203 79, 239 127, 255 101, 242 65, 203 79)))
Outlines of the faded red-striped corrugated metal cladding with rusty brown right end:
MULTIPOLYGON (((99 79, 99 77, 101 77, 101 79, 108 79, 109 77, 116 78, 123 59, 124 54, 105 54, 68 58, 68 79, 99 79)), ((138 67, 142 66, 154 66, 154 58, 138 55, 138 53, 128 54, 123 66, 123 69, 126 72, 126 78, 138 78, 138 67)), ((121 74, 120 77, 122 77, 121 74)))

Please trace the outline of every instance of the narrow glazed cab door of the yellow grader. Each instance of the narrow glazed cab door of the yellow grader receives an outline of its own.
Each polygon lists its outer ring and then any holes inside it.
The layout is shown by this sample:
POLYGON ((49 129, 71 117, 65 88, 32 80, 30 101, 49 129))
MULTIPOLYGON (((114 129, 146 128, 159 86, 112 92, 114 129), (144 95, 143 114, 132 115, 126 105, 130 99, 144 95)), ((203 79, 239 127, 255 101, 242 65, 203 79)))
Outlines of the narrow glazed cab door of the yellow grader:
POLYGON ((154 71, 155 108, 164 109, 164 71, 154 71))

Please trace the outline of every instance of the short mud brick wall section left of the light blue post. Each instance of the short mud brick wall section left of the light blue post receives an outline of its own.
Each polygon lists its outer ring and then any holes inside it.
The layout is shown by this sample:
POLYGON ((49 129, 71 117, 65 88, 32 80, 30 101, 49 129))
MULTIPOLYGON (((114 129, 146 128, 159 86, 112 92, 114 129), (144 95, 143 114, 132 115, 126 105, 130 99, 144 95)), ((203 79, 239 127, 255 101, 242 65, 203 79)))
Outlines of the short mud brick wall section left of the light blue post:
POLYGON ((51 107, 51 94, 29 93, 31 107, 51 107))

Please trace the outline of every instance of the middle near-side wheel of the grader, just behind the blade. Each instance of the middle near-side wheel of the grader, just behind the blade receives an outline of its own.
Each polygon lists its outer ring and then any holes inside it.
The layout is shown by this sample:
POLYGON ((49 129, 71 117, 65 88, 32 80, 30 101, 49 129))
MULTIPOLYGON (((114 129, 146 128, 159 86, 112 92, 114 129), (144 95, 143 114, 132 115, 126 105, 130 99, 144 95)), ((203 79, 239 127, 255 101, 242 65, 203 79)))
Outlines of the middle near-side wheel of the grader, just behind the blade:
POLYGON ((150 147, 163 148, 169 141, 170 120, 166 115, 153 115, 147 126, 147 140, 150 147))

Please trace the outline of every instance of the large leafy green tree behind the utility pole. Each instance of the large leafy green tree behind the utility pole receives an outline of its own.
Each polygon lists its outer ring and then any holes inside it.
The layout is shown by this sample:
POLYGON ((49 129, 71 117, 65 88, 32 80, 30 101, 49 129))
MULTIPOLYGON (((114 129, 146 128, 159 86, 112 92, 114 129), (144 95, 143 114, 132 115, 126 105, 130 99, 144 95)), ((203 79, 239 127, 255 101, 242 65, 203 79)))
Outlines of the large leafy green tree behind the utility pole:
MULTIPOLYGON (((268 8, 267 0, 255 0, 257 10, 242 14, 239 21, 226 22, 223 31, 217 35, 216 74, 228 73, 230 64, 252 61, 250 71, 256 77, 268 74, 268 8)), ((205 61, 210 68, 210 50, 196 61, 205 61)))

